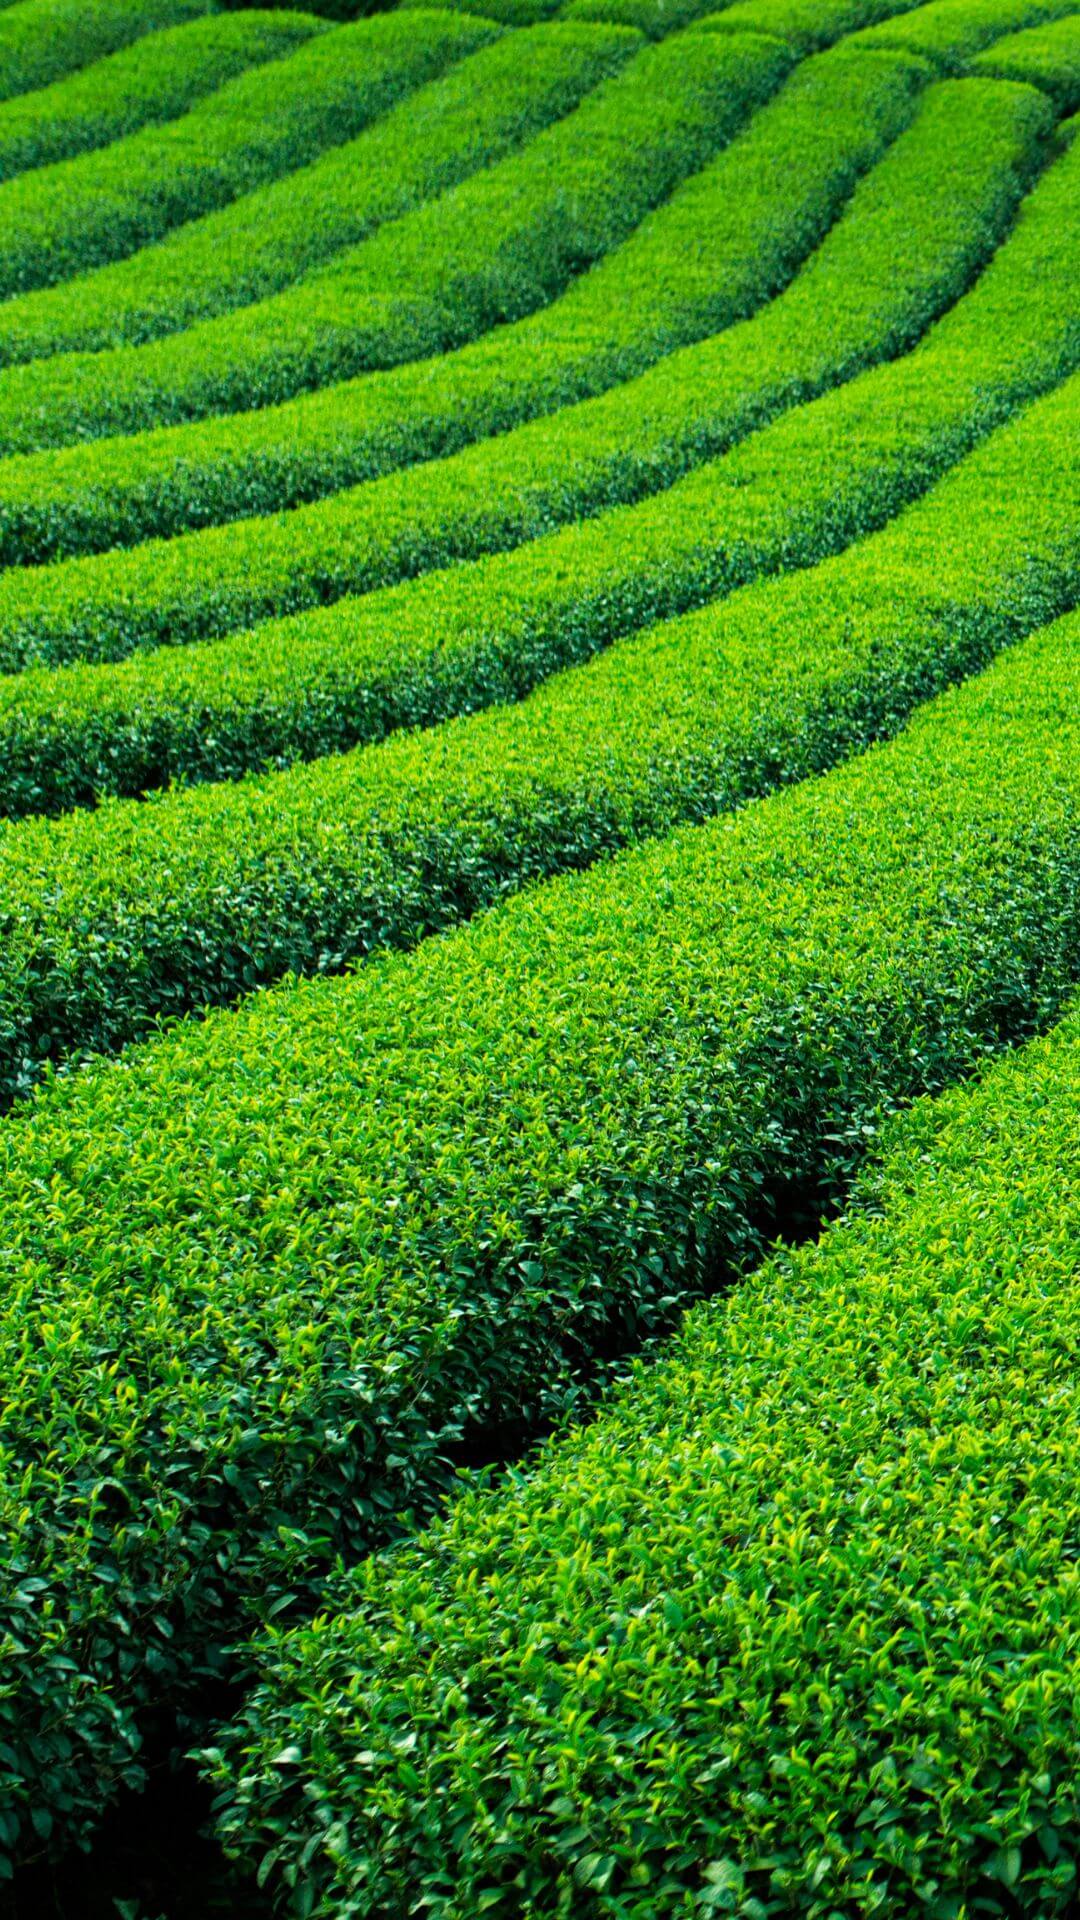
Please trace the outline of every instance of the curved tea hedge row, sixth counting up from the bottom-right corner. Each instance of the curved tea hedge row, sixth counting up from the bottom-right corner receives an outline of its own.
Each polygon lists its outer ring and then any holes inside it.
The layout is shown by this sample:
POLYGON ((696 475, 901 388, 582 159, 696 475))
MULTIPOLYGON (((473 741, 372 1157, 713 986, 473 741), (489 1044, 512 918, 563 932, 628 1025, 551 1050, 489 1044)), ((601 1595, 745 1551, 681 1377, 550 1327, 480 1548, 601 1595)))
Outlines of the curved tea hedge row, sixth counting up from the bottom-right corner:
MULTIPOLYGON (((728 96, 749 86, 757 61, 763 86, 778 79, 767 42, 724 44, 728 96)), ((903 56, 836 50, 807 61, 726 152, 552 307, 440 361, 263 413, 0 465, 4 555, 44 559, 65 543, 133 541, 296 505, 507 432, 740 321, 786 286, 901 132, 920 73, 903 56), (782 204, 780 169, 792 182, 782 204)))

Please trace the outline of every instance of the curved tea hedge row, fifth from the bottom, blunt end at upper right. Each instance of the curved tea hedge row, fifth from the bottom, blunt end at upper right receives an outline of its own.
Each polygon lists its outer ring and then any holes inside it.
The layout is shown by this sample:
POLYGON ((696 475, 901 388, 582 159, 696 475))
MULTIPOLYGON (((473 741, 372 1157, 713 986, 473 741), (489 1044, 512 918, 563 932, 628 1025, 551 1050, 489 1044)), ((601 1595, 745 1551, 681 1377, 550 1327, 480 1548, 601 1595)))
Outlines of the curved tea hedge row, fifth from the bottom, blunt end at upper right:
MULTIPOLYGON (((10 576, 0 582, 0 664, 117 659, 140 645, 204 639, 511 547, 671 486, 784 405, 911 348, 1001 238, 1045 157, 1049 125, 1042 94, 1026 88, 930 88, 803 273, 753 321, 553 419, 284 518, 10 576)), ((1080 179, 1080 161, 1074 171, 1080 179)), ((1074 202, 1065 179, 1051 179, 1059 217, 1049 217, 1068 259, 1074 202)), ((27 467, 12 486, 17 532, 0 507, 0 557, 42 543, 27 467)), ((102 505, 106 524, 94 538, 108 543, 123 503, 110 490, 102 505)), ((52 530, 52 503, 44 520, 52 530)), ((79 532, 88 532, 86 520, 79 516, 79 532)))

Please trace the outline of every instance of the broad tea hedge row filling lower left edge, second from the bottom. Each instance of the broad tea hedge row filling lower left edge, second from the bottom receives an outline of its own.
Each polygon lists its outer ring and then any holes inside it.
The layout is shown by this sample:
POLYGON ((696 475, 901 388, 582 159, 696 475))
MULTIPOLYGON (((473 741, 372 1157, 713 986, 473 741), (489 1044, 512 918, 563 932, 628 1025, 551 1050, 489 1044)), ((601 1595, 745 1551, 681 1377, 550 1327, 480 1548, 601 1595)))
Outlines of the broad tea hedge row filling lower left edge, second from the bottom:
POLYGON ((1080 970, 1068 695, 1011 662, 838 776, 8 1121, 17 1849, 31 1809, 69 1836, 138 1778, 142 1713, 423 1511, 463 1434, 565 1409, 778 1208, 832 1204, 882 1108, 1053 1018, 1080 970))

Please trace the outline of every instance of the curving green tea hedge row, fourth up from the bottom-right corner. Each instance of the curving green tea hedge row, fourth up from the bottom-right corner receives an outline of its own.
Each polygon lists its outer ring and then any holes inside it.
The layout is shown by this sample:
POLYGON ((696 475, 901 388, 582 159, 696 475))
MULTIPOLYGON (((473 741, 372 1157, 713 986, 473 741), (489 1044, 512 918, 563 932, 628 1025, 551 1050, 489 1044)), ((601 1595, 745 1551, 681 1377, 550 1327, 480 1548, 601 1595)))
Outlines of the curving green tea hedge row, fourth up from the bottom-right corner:
MULTIPOLYGON (((1032 221, 1028 234, 1030 271, 1047 257, 1045 227, 1032 221)), ((1051 257, 1055 246, 1051 230, 1051 257)), ((519 699, 650 620, 824 559, 1076 365, 1074 301, 1055 309, 1040 292, 1040 342, 1032 309, 1017 309, 1024 282, 988 273, 978 303, 944 323, 940 353, 930 336, 634 507, 206 645, 0 680, 0 810, 234 780, 519 699)))

